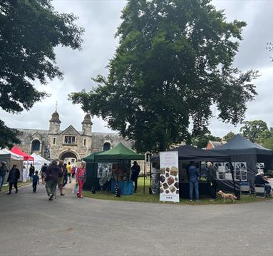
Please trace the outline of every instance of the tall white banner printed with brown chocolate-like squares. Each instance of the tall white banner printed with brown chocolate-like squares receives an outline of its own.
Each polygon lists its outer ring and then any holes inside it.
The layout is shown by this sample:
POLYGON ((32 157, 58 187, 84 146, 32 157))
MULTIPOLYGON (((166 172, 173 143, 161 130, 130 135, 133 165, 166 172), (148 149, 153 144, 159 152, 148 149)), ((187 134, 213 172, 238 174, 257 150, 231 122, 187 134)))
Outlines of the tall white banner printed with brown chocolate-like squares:
POLYGON ((179 202, 178 151, 160 152, 160 201, 179 202))

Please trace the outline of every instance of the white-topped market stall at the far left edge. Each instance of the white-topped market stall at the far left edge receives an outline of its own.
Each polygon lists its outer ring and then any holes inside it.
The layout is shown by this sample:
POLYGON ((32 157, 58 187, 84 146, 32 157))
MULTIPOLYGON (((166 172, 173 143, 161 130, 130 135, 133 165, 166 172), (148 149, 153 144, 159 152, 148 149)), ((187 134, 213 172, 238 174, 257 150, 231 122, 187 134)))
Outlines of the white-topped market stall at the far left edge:
MULTIPOLYGON (((13 165, 17 165, 17 168, 20 170, 19 182, 23 180, 23 159, 23 156, 12 153, 6 148, 0 149, 0 162, 6 162, 6 168, 8 168, 8 170, 11 170, 13 165)), ((4 183, 6 183, 7 178, 8 175, 6 175, 4 183)))

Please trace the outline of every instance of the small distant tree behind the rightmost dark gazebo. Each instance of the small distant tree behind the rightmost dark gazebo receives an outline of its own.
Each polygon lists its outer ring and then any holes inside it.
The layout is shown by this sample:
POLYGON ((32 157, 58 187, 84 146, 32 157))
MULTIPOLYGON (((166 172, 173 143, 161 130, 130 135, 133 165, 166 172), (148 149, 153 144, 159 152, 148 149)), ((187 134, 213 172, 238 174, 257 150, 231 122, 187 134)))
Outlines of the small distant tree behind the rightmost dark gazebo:
POLYGON ((259 138, 261 138, 266 131, 268 131, 267 123, 262 120, 245 121, 244 126, 240 128, 240 132, 244 138, 257 143, 259 143, 259 138))

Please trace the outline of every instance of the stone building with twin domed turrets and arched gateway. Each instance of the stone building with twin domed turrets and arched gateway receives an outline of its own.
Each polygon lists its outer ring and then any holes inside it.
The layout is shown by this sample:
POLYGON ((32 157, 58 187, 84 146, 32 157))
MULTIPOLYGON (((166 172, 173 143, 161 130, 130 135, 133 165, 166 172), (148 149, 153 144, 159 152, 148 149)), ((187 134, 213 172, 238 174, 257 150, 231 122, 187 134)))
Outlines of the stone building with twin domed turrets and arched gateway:
POLYGON ((86 114, 82 130, 73 126, 60 130, 61 120, 55 111, 49 120, 48 130, 18 129, 22 132, 19 148, 26 153, 36 153, 46 159, 62 159, 76 162, 93 152, 108 150, 122 142, 128 148, 131 143, 118 133, 92 132, 91 116, 86 114))

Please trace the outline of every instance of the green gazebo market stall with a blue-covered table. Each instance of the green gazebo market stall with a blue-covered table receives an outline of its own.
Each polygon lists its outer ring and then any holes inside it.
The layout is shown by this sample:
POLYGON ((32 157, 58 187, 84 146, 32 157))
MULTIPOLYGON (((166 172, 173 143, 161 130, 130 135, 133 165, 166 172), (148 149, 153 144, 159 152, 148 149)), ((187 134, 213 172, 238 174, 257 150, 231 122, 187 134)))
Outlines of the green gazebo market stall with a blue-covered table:
MULTIPOLYGON (((114 193, 118 183, 121 195, 133 193, 133 182, 130 181, 130 161, 144 160, 145 156, 133 152, 119 143, 107 151, 93 153, 83 160, 86 161, 85 189, 100 188, 99 180, 108 178, 110 189, 114 193)), ((107 180, 107 179, 105 179, 107 180)))

